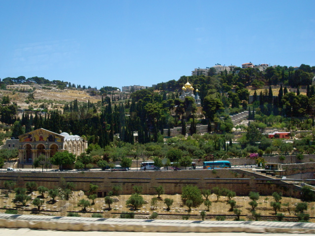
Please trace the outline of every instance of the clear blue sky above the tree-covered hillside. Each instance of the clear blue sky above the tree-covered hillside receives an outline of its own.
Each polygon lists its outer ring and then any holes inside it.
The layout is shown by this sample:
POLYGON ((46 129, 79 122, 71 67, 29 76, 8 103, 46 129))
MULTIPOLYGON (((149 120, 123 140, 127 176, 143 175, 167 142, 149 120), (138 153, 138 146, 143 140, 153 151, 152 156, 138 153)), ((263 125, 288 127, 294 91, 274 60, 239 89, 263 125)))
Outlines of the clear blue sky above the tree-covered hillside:
POLYGON ((215 64, 315 66, 315 0, 0 0, 0 78, 151 86, 215 64))

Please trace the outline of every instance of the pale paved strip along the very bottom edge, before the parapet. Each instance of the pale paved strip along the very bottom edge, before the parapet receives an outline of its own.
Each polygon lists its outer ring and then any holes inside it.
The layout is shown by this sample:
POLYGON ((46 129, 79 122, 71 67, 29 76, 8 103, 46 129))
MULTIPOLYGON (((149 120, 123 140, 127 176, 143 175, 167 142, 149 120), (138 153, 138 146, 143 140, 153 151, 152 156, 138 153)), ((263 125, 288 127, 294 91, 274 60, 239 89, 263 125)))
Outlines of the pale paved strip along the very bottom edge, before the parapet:
MULTIPOLYGON (((148 232, 71 232, 53 230, 31 230, 31 229, 0 229, 3 236, 258 236, 251 233, 148 233, 148 232)), ((272 234, 268 236, 301 236, 301 234, 272 234)), ((311 234, 303 234, 311 235, 311 234)))

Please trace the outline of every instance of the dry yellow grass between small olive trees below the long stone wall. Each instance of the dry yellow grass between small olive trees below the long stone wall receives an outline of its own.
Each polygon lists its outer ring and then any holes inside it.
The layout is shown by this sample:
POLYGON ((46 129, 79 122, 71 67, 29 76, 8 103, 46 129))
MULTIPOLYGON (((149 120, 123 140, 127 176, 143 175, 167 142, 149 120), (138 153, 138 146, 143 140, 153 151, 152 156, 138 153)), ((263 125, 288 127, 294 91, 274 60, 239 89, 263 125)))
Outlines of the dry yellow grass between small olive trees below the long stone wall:
MULTIPOLYGON (((35 192, 32 194, 32 198, 35 198, 39 194, 35 192)), ((15 194, 9 194, 9 198, 3 197, 3 195, 0 198, 0 207, 4 206, 10 206, 14 207, 14 203, 12 202, 12 199, 14 198, 15 194)), ((77 206, 77 202, 79 202, 80 199, 86 199, 88 200, 87 196, 83 195, 82 191, 76 191, 74 192, 72 198, 69 201, 65 200, 59 200, 58 202, 51 204, 49 203, 50 198, 47 197, 47 193, 45 194, 46 199, 45 199, 45 208, 46 209, 51 209, 51 210, 62 210, 61 212, 52 212, 52 213, 47 213, 43 212, 43 214, 51 214, 51 215, 56 215, 56 216, 65 216, 67 214, 66 211, 80 211, 82 207, 77 206), (55 207, 54 207, 55 206, 55 207)), ((113 208, 111 211, 104 211, 102 215, 106 218, 114 218, 114 217, 119 217, 119 214, 111 214, 111 212, 118 212, 121 213, 122 211, 130 211, 129 208, 126 207, 126 200, 130 197, 130 195, 121 195, 119 197, 113 197, 119 199, 119 202, 115 202, 111 205, 113 208), (115 209, 117 208, 117 209, 115 209)), ((149 202, 145 204, 143 207, 141 207, 140 212, 141 213, 147 213, 149 214, 153 213, 153 210, 151 209, 151 199, 153 197, 157 196, 152 196, 152 195, 143 195, 143 198, 145 201, 149 202), (143 212, 144 211, 144 212, 143 212)), ((57 198, 58 200, 58 198, 57 198)), ((217 202, 217 196, 212 194, 209 197, 209 200, 212 202, 212 205, 210 206, 210 211, 206 212, 206 214, 233 214, 233 212, 228 211, 230 208, 230 205, 227 204, 227 198, 226 197, 220 197, 219 202, 217 202)), ((236 201, 237 208, 242 210, 242 214, 244 215, 251 215, 251 208, 248 202, 251 200, 249 197, 235 197, 233 198, 234 201, 236 201)), ((91 200, 89 200, 92 202, 91 200)), ((257 207, 257 212, 261 213, 261 215, 274 215, 274 210, 270 207, 270 202, 274 201, 272 196, 260 196, 258 202, 258 207, 257 207)), ((294 205, 298 202, 301 202, 299 199, 294 199, 294 198, 283 198, 281 200, 282 203, 289 202, 291 206, 291 214, 289 215, 287 210, 283 207, 279 212, 283 213, 285 216, 294 216, 294 205)), ((92 205, 88 207, 90 211, 97 211, 101 210, 103 207, 107 208, 108 205, 104 206, 104 198, 97 198, 95 199, 95 205, 92 205)), ((307 213, 310 214, 311 217, 315 216, 315 202, 308 203, 308 210, 307 213)), ((28 205, 29 209, 35 208, 34 205, 31 203, 28 205)), ((161 195, 161 200, 158 201, 158 208, 155 209, 159 214, 188 214, 187 212, 188 207, 185 207, 182 205, 181 202, 181 195, 161 195), (164 204, 164 199, 165 198, 170 198, 174 200, 174 203, 171 207, 171 212, 167 212, 164 210, 163 207, 166 205, 164 204), (177 209, 176 209, 177 208, 177 209)), ((197 214, 200 215, 201 210, 206 210, 207 207, 205 205, 200 205, 197 209, 193 209, 190 214, 197 214)), ((0 212, 4 212, 5 210, 0 210, 0 212)), ((19 213, 23 214, 31 214, 31 211, 20 211, 19 213)), ((81 216, 83 217, 91 217, 91 213, 80 213, 81 216)), ((147 217, 147 216, 138 216, 138 217, 147 217)), ((159 216, 159 219, 182 219, 181 216, 159 216)), ((242 217, 245 218, 245 217, 242 217)), ((200 220, 200 216, 191 216, 189 219, 193 220, 200 220)), ((230 217, 230 219, 226 220, 233 220, 233 217, 230 217)), ((272 219, 270 219, 272 220, 272 219)), ((315 222, 315 219, 311 219, 310 222, 315 222)))

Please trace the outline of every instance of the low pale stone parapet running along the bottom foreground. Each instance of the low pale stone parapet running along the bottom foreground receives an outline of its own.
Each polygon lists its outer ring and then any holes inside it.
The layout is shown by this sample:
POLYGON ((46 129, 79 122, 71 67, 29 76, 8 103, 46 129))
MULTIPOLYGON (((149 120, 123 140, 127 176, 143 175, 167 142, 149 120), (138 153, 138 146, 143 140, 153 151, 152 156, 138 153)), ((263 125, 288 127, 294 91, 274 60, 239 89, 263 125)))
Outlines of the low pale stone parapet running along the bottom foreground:
POLYGON ((57 231, 161 232, 161 233, 296 233, 314 234, 314 223, 267 221, 146 220, 11 215, 0 213, 0 228, 57 231))

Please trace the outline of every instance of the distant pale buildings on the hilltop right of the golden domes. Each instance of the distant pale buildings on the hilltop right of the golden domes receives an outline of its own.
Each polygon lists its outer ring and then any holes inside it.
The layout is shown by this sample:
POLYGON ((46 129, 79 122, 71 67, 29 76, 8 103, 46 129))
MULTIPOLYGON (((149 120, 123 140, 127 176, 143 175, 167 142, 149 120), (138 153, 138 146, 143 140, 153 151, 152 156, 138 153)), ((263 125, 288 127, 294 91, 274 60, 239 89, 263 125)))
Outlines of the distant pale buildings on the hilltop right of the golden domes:
MULTIPOLYGON (((256 68, 259 69, 260 71, 264 71, 267 67, 270 67, 268 64, 260 64, 260 65, 253 65, 251 62, 250 63, 244 63, 242 64, 242 68, 256 68)), ((194 70, 191 71, 191 75, 208 75, 209 71, 212 69, 213 72, 216 74, 220 72, 231 72, 233 71, 234 68, 237 68, 237 66, 221 66, 221 64, 216 64, 214 67, 206 67, 205 69, 203 68, 195 68, 194 70)), ((236 71, 237 73, 237 71, 236 71)))

